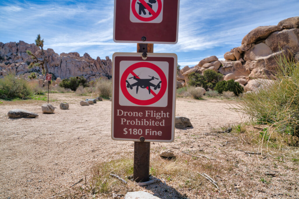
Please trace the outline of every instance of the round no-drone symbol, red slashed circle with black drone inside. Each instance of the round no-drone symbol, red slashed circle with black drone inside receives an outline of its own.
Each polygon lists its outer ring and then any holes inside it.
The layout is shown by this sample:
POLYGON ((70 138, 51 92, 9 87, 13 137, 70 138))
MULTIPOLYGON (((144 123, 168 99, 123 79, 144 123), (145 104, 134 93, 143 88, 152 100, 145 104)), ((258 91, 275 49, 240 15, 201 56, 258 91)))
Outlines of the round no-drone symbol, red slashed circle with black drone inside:
MULTIPOLYGON (((152 77, 152 80, 155 78, 153 76, 150 76, 150 77, 152 77)), ((157 79, 157 78, 155 78, 155 79, 157 79)), ((138 62, 138 63, 132 64, 123 72, 123 75, 120 78, 120 89, 121 89, 123 95, 132 103, 141 105, 141 106, 142 105, 146 106, 146 105, 154 104, 155 102, 159 101, 163 97, 163 95, 165 94, 165 92, 167 90, 167 79, 166 79, 164 72, 155 64, 149 63, 149 62, 138 62), (137 82, 138 82, 138 79, 139 79, 138 75, 136 75, 134 72, 134 70, 138 69, 138 68, 149 68, 149 69, 152 69, 153 71, 155 71, 159 75, 161 88, 157 94, 155 93, 155 89, 157 87, 158 88, 160 87, 160 83, 157 85, 153 85, 152 83, 149 82, 151 79, 147 79, 147 80, 141 79, 140 81, 143 81, 143 82, 146 81, 146 83, 144 83, 143 85, 141 85, 142 83, 138 84, 137 88, 136 88, 136 93, 138 93, 138 86, 140 86, 141 88, 145 88, 147 86, 146 88, 149 90, 149 94, 153 95, 153 98, 150 98, 147 100, 140 100, 140 99, 133 97, 128 92, 128 88, 132 89, 133 84, 130 85, 128 83, 127 79, 129 77, 129 75, 131 74, 131 75, 133 75, 134 79, 137 80, 137 82), (152 90, 150 86, 155 86, 154 90, 152 90)))

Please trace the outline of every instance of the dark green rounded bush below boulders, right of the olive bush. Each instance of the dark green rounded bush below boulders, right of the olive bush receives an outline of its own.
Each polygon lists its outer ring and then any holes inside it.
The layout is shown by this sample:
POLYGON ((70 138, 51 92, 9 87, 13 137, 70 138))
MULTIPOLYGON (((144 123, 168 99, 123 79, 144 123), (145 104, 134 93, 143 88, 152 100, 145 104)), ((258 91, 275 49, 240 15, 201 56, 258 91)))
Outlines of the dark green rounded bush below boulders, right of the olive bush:
POLYGON ((236 96, 239 96, 242 92, 244 92, 244 88, 233 79, 227 81, 222 80, 218 82, 214 89, 221 94, 225 91, 231 91, 234 92, 236 96))

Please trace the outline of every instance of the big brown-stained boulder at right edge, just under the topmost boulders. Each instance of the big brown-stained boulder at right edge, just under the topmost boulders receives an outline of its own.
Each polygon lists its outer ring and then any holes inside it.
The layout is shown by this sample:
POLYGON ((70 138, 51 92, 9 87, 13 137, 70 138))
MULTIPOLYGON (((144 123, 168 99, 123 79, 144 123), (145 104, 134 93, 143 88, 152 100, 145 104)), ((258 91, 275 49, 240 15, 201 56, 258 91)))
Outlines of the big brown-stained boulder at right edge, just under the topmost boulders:
POLYGON ((299 29, 285 29, 272 33, 266 40, 267 44, 273 52, 283 50, 290 50, 292 53, 299 51, 299 29))

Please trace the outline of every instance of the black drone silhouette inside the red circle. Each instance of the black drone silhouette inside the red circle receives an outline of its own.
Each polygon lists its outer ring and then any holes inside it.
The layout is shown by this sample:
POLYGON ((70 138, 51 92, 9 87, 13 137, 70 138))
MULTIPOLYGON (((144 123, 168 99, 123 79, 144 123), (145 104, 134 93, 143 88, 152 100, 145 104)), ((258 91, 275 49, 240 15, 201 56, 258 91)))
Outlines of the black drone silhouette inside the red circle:
POLYGON ((128 80, 126 80, 127 88, 130 88, 132 90, 134 86, 137 86, 136 87, 136 94, 138 93, 139 86, 143 89, 148 88, 149 94, 150 94, 150 91, 151 91, 151 89, 150 89, 151 86, 154 87, 155 90, 157 90, 157 88, 158 89, 161 88, 160 84, 162 83, 162 81, 160 81, 157 85, 150 82, 154 79, 158 80, 158 78, 155 78, 154 76, 149 76, 149 77, 151 77, 150 79, 139 79, 139 78, 137 78, 138 76, 134 75, 134 77, 129 78, 129 79, 133 78, 134 80, 137 81, 137 82, 133 83, 132 85, 128 82, 128 80))

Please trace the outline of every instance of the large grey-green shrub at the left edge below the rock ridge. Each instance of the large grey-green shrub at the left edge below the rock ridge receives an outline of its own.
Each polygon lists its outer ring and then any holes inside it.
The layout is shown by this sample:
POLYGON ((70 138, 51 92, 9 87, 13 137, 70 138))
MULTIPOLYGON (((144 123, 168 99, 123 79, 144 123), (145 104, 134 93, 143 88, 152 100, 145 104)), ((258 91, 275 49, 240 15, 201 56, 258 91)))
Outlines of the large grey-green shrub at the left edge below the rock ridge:
POLYGON ((32 94, 32 90, 25 79, 16 78, 13 74, 8 74, 0 79, 0 98, 28 99, 32 94))

